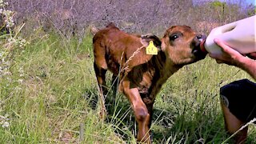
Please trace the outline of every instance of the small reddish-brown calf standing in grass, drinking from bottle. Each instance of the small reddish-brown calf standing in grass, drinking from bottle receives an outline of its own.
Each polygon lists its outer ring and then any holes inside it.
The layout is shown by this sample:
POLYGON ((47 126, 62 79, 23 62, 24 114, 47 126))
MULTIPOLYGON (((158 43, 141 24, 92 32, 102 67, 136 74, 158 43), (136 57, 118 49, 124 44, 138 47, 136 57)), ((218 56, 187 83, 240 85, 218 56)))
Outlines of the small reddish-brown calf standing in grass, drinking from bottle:
POLYGON ((112 82, 119 75, 118 90, 126 95, 134 110, 138 141, 150 143, 154 100, 162 84, 182 66, 206 57, 199 49, 203 37, 189 26, 171 26, 162 39, 153 34, 126 34, 112 23, 94 35, 98 86, 106 94, 106 70, 113 73, 112 82), (156 55, 146 54, 146 47, 152 42, 156 55))

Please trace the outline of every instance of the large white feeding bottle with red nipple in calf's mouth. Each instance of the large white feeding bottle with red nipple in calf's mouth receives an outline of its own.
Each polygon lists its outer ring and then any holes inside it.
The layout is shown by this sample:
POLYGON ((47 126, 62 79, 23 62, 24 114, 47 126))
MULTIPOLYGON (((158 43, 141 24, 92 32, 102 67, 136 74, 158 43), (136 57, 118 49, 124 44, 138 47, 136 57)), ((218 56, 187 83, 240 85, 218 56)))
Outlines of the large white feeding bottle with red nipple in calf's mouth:
POLYGON ((201 42, 201 50, 211 54, 221 54, 221 48, 214 42, 214 38, 218 38, 240 54, 256 52, 255 23, 256 15, 214 28, 206 41, 201 42))

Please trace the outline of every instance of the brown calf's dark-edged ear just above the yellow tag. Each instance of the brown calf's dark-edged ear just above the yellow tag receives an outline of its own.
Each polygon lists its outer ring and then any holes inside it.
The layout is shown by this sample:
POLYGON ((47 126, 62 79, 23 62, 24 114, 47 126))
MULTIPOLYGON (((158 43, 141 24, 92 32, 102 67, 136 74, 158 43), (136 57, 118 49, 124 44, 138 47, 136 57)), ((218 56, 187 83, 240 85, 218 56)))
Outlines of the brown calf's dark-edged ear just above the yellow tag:
POLYGON ((141 42, 143 46, 145 47, 149 46, 150 41, 154 42, 154 46, 158 48, 158 51, 162 50, 161 49, 162 42, 157 36, 155 36, 154 34, 146 34, 141 36, 141 42))

